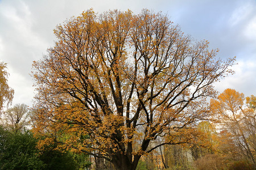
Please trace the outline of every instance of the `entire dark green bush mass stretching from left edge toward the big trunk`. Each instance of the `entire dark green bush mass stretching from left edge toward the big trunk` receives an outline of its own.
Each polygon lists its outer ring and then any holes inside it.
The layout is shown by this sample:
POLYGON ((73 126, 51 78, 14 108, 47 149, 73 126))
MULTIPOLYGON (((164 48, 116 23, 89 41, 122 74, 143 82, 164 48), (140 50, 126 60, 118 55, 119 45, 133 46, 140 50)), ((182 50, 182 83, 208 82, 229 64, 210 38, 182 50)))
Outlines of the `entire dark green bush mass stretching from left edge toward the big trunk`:
POLYGON ((0 126, 1 169, 85 169, 90 167, 89 156, 56 150, 55 145, 42 151, 30 131, 24 133, 5 130, 0 126))

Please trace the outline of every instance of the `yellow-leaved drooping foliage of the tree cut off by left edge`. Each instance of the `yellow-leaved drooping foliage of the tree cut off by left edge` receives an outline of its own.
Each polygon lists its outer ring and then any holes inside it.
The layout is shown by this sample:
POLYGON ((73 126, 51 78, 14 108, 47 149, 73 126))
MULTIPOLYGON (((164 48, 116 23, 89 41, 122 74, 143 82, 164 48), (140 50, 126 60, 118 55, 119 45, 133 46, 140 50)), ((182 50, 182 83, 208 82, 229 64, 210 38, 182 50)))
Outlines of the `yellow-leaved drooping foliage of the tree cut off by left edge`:
POLYGON ((8 85, 8 73, 6 71, 6 63, 0 62, 0 112, 5 104, 9 105, 13 100, 14 90, 8 85))

